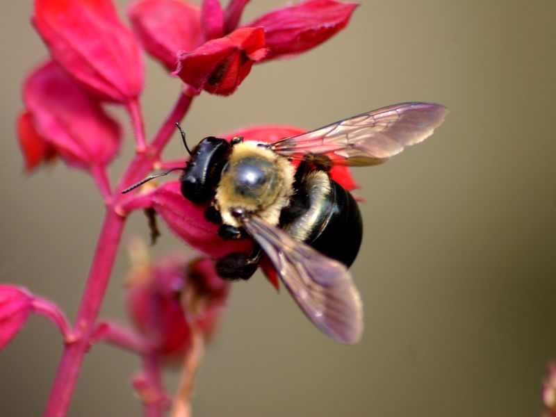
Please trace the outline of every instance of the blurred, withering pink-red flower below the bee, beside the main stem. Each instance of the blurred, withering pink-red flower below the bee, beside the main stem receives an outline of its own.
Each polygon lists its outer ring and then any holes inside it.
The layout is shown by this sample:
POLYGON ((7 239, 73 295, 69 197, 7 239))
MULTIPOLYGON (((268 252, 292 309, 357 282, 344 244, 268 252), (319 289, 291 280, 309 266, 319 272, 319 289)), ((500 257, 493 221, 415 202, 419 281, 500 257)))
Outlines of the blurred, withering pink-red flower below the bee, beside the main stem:
POLYGON ((179 357, 193 332, 209 338, 225 306, 229 283, 213 261, 176 254, 135 265, 129 278, 129 316, 149 345, 167 359, 179 357))

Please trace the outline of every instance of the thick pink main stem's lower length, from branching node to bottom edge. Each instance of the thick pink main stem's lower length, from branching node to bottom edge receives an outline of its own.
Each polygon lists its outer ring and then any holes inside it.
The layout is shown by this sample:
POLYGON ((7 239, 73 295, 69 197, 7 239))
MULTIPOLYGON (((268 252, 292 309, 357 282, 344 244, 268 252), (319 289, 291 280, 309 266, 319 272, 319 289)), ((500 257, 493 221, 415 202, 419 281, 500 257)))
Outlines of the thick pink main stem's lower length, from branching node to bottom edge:
POLYGON ((75 322, 76 340, 67 343, 52 386, 46 417, 62 417, 67 414, 85 352, 89 348, 89 337, 99 313, 108 279, 111 275, 117 248, 124 227, 124 218, 108 208, 97 250, 92 261, 87 286, 75 322))

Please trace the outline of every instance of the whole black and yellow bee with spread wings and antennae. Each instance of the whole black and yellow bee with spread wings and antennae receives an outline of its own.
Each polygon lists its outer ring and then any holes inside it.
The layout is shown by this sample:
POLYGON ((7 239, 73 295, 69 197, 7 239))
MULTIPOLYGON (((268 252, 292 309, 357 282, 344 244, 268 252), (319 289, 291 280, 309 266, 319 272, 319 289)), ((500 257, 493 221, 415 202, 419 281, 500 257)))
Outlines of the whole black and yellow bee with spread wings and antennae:
POLYGON ((439 104, 395 104, 274 143, 211 136, 193 152, 179 128, 190 154, 186 166, 123 193, 182 170, 183 197, 210 203, 205 217, 220 224, 220 236, 254 241, 250 254, 217 261, 221 277, 248 279, 264 254, 318 329, 340 343, 357 343, 363 308, 348 268, 359 252, 363 223, 354 197, 329 172, 334 165, 384 163, 431 136, 447 113, 439 104))

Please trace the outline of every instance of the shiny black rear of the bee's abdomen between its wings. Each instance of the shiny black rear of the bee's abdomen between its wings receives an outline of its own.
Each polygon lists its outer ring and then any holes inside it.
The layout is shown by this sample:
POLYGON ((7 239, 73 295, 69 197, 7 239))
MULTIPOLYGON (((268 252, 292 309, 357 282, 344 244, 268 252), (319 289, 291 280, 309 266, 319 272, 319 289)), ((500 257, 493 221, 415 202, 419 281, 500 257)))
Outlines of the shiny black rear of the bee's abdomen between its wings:
POLYGON ((318 228, 316 237, 306 243, 349 267, 359 253, 363 238, 361 212, 349 191, 332 179, 330 186, 328 218, 314 226, 318 228))

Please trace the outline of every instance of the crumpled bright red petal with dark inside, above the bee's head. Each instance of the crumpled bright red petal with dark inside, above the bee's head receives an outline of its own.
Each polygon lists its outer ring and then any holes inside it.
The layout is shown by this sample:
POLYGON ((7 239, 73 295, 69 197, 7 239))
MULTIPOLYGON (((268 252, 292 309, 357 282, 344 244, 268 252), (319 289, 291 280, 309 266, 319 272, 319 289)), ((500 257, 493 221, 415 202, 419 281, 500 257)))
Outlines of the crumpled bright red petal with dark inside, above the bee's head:
POLYGON ((173 73, 185 83, 217 95, 230 95, 266 54, 262 28, 241 28, 209 40, 192 52, 179 54, 173 73))

